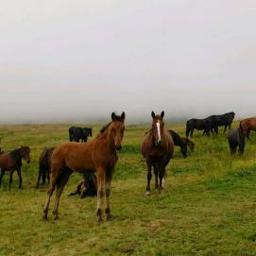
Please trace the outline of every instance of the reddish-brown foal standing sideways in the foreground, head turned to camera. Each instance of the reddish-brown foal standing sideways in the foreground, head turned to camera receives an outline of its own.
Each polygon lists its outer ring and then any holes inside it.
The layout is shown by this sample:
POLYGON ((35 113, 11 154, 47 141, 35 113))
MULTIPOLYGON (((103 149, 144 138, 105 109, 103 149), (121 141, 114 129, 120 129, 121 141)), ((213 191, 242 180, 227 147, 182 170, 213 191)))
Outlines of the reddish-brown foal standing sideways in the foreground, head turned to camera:
POLYGON ((58 219, 60 195, 72 172, 97 174, 97 219, 102 221, 102 199, 106 196, 107 219, 111 220, 110 194, 111 179, 118 160, 116 150, 122 148, 125 131, 125 112, 121 116, 111 113, 111 123, 100 130, 100 134, 86 144, 65 143, 53 151, 48 196, 43 209, 43 218, 47 219, 50 198, 55 188, 55 219, 58 219))

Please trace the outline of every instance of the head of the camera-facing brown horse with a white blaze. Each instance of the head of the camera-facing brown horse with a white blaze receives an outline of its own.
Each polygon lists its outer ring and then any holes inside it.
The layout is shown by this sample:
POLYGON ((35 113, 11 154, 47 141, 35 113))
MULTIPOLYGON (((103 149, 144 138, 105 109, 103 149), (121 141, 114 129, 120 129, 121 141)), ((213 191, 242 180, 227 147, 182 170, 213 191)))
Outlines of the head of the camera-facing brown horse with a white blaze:
POLYGON ((151 112, 151 116, 153 118, 152 121, 152 131, 153 131, 153 140, 155 145, 161 145, 162 144, 162 138, 163 138, 163 116, 164 111, 159 114, 155 114, 154 111, 151 112))

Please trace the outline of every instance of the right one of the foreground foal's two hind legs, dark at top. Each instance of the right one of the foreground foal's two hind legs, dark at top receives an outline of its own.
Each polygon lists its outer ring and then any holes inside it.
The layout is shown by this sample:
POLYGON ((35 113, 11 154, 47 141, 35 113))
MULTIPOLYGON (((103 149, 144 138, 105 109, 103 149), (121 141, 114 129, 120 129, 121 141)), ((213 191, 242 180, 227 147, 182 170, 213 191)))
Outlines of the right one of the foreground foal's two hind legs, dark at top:
POLYGON ((60 178, 56 182, 57 190, 56 190, 56 198, 55 198, 55 204, 54 204, 54 210, 53 210, 55 220, 59 219, 58 213, 59 213, 60 196, 71 174, 72 174, 72 170, 70 168, 65 168, 61 173, 60 178))

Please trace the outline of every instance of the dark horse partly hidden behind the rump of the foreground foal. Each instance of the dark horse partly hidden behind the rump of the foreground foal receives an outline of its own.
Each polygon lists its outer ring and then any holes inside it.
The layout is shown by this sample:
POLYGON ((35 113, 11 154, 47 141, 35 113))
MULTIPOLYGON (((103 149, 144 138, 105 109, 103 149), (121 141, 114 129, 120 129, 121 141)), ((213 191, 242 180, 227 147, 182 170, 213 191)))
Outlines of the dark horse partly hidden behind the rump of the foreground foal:
POLYGON ((43 185, 47 178, 48 184, 50 180, 50 168, 51 168, 51 156, 53 153, 54 147, 44 148, 43 152, 39 157, 39 171, 38 171, 38 182, 36 188, 39 187, 40 179, 43 179, 43 185))

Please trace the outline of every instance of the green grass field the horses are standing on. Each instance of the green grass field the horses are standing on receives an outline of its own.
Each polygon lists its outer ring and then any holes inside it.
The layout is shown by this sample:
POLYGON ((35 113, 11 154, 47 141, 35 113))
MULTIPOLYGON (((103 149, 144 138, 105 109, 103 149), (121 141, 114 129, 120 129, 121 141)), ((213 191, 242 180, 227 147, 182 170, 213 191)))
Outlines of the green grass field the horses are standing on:
MULTIPOLYGON (((68 127, 0 127, 4 150, 31 148, 23 189, 16 174, 11 190, 8 175, 0 189, 0 255, 256 255, 256 134, 243 157, 230 157, 222 128, 210 138, 195 132, 188 158, 176 148, 162 194, 152 189, 145 196, 140 145, 149 127, 129 126, 112 182, 114 220, 97 225, 95 197, 67 196, 81 180, 73 174, 60 199, 60 220, 50 212, 45 222, 46 187, 34 188, 38 158, 43 147, 67 141, 68 127)), ((184 135, 184 126, 168 128, 184 135)))

